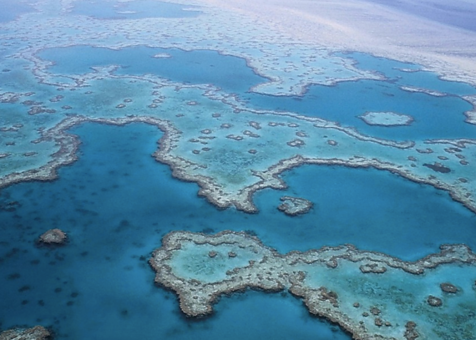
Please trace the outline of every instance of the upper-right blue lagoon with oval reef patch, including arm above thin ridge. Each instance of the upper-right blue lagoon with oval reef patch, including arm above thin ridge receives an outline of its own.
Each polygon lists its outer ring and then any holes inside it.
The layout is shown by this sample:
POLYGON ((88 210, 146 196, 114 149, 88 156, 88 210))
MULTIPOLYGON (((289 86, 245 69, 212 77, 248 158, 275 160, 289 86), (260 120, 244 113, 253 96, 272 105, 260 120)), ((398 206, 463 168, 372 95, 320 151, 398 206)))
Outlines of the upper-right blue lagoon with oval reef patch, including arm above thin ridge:
POLYGON ((292 111, 340 122, 356 127, 361 133, 393 140, 422 140, 438 138, 476 138, 474 125, 464 123, 464 112, 472 105, 459 96, 475 94, 476 89, 461 82, 441 80, 433 72, 404 72, 419 66, 396 60, 377 58, 363 53, 336 53, 352 58, 359 69, 378 70, 386 81, 359 80, 341 82, 335 86, 311 85, 304 96, 276 97, 255 93, 243 94, 251 107, 292 111), (425 93, 409 93, 400 86, 414 86, 448 93, 436 97, 425 93), (332 100, 329 100, 332 98, 332 100), (336 105, 339 103, 339 105, 336 105), (395 111, 410 115, 410 126, 371 126, 359 115, 367 111, 395 111))

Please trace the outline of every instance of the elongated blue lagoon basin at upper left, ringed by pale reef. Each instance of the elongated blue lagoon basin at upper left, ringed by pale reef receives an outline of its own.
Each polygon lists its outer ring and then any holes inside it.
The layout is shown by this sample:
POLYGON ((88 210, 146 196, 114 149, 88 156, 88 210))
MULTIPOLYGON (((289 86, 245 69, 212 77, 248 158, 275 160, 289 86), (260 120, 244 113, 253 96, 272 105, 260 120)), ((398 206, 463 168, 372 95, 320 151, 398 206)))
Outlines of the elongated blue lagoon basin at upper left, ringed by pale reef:
POLYGON ((49 71, 62 74, 85 74, 92 66, 120 65, 117 74, 148 73, 185 84, 214 84, 227 92, 245 92, 251 84, 266 81, 246 66, 245 59, 209 50, 187 52, 146 46, 111 50, 86 45, 45 49, 38 56, 54 61, 49 71), (161 53, 171 57, 153 58, 161 53))

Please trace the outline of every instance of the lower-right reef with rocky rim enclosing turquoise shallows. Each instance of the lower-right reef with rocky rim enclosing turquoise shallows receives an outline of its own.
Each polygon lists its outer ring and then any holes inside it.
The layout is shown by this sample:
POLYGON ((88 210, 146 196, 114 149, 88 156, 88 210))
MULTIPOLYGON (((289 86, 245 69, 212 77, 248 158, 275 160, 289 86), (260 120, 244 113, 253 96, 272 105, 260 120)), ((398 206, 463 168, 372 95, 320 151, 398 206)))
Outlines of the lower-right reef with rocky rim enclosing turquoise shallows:
POLYGON ((149 262, 189 317, 211 314, 222 294, 287 289, 354 339, 476 339, 476 254, 440 248, 416 262, 352 245, 283 255, 247 233, 176 231, 149 262))

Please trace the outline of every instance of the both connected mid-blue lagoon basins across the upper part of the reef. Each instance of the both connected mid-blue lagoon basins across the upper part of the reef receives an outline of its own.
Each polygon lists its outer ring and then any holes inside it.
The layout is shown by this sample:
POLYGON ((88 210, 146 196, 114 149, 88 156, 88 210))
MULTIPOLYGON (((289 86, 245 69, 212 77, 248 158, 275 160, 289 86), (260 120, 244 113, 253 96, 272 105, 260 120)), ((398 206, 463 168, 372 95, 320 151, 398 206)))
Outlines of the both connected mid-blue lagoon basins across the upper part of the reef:
POLYGON ((156 74, 175 82, 188 84, 210 83, 227 92, 238 93, 250 107, 297 112, 354 126, 360 132, 393 140, 421 140, 436 138, 476 138, 473 125, 464 123, 463 112, 472 106, 458 96, 476 93, 476 89, 460 82, 442 81, 431 72, 402 72, 398 69, 417 69, 405 64, 368 54, 340 54, 352 57, 365 70, 379 70, 388 81, 360 80, 340 82, 336 86, 309 86, 304 96, 270 96, 248 90, 267 79, 258 76, 242 58, 221 55, 215 51, 185 52, 145 46, 123 48, 119 51, 92 46, 71 46, 42 50, 39 57, 52 60, 50 72, 84 74, 91 66, 121 65, 118 74, 156 74), (152 58, 158 53, 170 58, 152 58), (74 60, 74 62, 71 62, 74 60), (425 93, 409 93, 402 85, 425 87, 450 95, 435 97, 425 93), (339 105, 336 105, 339 103, 339 105), (366 111, 396 111, 411 115, 410 126, 371 126, 359 115, 366 111))

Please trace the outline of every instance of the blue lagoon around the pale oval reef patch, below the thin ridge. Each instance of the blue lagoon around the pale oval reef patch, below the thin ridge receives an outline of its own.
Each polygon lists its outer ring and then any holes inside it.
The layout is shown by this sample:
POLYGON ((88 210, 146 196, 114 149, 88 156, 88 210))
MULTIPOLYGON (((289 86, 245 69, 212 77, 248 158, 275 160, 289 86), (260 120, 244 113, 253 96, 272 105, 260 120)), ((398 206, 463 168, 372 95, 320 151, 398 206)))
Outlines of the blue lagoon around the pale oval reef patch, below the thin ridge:
POLYGON ((330 87, 315 85, 309 87, 303 97, 274 97, 254 93, 243 96, 249 101, 250 107, 324 118, 383 139, 476 138, 474 125, 466 124, 463 115, 472 106, 461 98, 409 93, 383 81, 342 82, 330 87), (367 111, 395 111, 410 115, 415 121, 409 126, 371 126, 358 118, 367 111))

